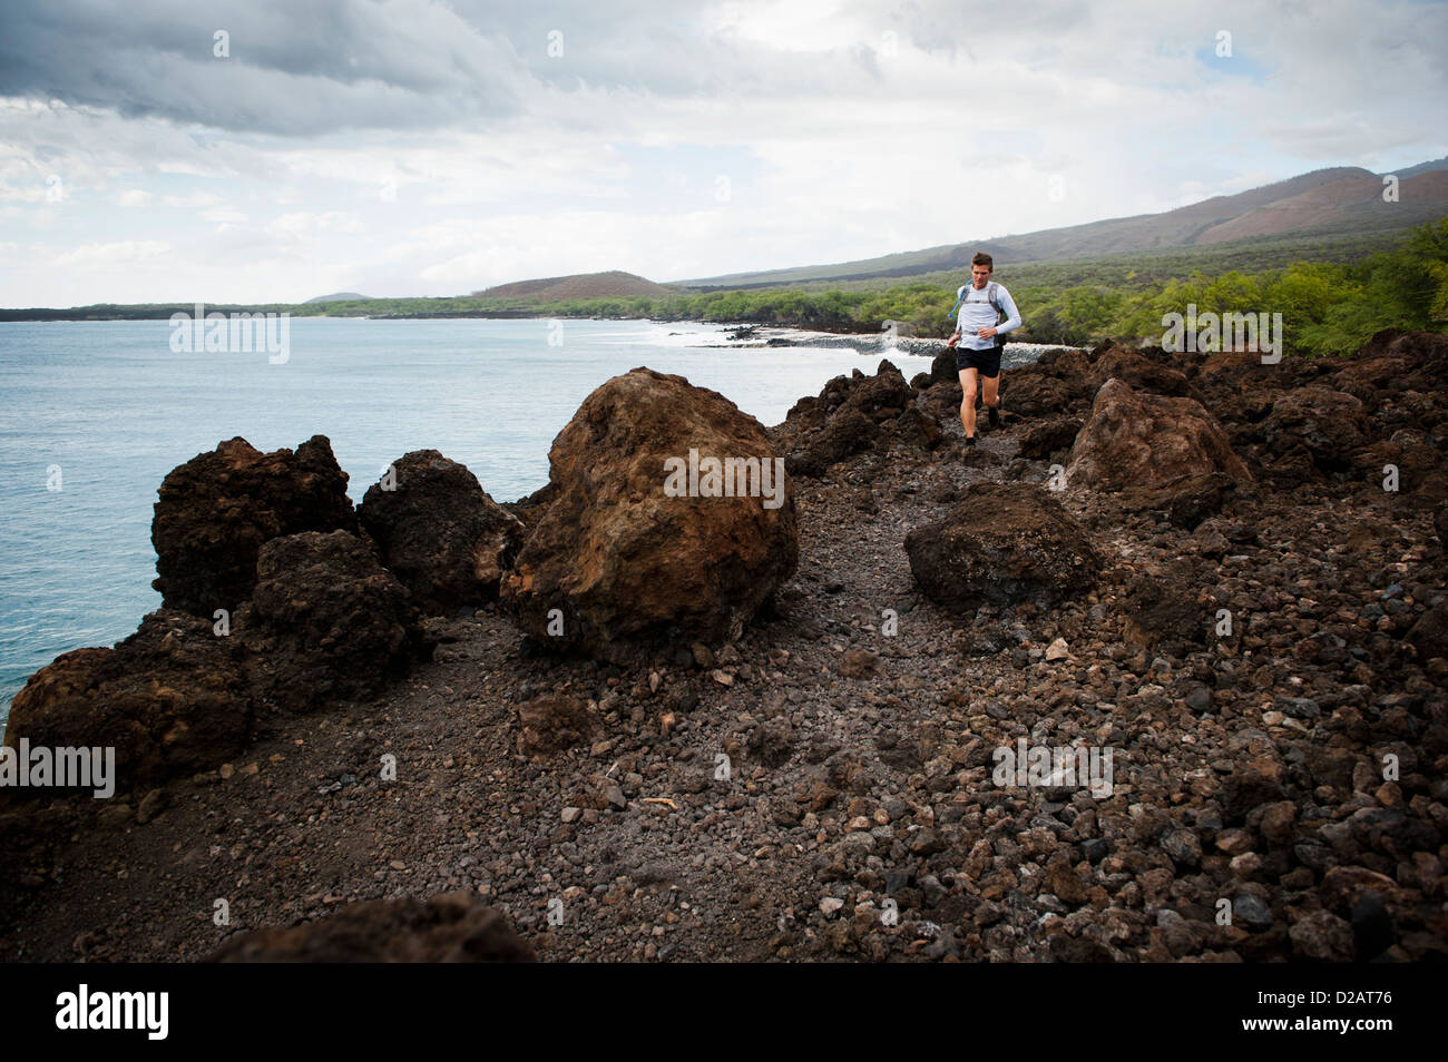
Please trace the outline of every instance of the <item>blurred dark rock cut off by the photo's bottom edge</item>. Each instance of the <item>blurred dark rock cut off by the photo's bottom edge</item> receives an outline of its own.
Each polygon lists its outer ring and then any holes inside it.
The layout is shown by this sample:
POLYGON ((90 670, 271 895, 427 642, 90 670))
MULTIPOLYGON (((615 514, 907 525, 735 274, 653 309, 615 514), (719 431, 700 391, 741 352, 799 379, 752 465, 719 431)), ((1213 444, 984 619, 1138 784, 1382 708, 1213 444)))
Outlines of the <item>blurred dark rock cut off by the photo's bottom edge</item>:
POLYGON ((466 891, 348 904, 319 922, 233 936, 209 962, 533 962, 507 916, 466 891))

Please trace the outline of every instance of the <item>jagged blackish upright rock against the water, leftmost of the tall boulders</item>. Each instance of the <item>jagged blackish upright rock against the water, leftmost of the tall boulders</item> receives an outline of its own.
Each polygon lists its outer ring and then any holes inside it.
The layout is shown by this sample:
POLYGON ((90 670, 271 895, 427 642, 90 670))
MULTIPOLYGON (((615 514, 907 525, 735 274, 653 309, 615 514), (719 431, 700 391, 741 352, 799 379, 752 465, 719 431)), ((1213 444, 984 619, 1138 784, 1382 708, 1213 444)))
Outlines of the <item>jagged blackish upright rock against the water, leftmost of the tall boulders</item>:
POLYGON ((298 531, 356 531, 348 473, 326 436, 261 453, 242 437, 197 454, 158 490, 151 543, 165 608, 210 618, 252 596, 264 543, 298 531))

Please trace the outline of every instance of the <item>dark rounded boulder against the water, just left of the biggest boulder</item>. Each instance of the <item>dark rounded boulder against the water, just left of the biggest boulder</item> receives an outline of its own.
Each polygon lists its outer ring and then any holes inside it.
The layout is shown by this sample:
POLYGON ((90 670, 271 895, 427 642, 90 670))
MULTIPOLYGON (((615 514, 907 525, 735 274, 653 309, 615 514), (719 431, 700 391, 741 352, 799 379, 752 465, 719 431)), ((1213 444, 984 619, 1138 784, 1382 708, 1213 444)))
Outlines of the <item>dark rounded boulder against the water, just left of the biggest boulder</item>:
POLYGON ((414 450, 368 488, 358 521, 382 564, 430 615, 495 600, 523 545, 523 521, 492 501, 465 464, 414 450))

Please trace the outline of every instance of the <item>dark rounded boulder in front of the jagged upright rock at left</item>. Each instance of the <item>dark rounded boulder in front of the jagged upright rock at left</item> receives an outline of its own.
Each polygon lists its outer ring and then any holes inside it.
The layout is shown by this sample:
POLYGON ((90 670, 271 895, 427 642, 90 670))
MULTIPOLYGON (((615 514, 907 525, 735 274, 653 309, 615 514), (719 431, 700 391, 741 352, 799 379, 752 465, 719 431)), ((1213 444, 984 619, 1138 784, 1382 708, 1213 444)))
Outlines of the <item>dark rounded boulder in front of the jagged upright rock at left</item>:
POLYGON ((372 697, 436 648, 407 587, 346 531, 274 538, 256 576, 236 625, 249 679, 277 708, 372 697))

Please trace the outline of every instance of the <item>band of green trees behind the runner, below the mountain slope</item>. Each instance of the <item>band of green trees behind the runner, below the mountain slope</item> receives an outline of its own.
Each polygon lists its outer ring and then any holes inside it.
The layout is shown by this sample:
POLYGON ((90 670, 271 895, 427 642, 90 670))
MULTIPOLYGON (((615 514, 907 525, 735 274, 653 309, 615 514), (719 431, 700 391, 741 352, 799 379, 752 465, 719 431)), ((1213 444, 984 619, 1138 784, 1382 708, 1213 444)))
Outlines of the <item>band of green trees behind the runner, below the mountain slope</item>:
MULTIPOLYGON (((1115 272, 1106 282, 1058 284, 1040 266, 996 271, 1011 288, 1024 324, 1016 336, 1035 343, 1086 346, 1106 337, 1156 343, 1163 317, 1196 314, 1281 314, 1283 341, 1293 353, 1358 349, 1386 327, 1442 331, 1448 324, 1448 217, 1409 233, 1397 246, 1352 262, 1296 260, 1257 272, 1231 269, 1208 276, 1145 282, 1135 271, 1115 272)), ((652 317, 820 328, 880 331, 896 321, 902 334, 944 337, 953 326, 956 278, 915 279, 893 286, 850 289, 753 288, 584 298, 555 302, 529 300, 368 300, 329 302, 326 314, 652 317), (944 281, 944 282, 943 282, 944 281)), ((964 276, 959 282, 964 282, 964 276)), ((308 307, 308 310, 319 310, 308 307)))

